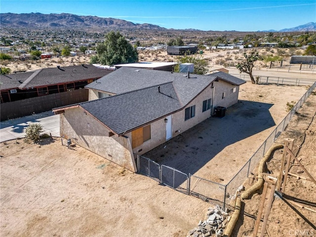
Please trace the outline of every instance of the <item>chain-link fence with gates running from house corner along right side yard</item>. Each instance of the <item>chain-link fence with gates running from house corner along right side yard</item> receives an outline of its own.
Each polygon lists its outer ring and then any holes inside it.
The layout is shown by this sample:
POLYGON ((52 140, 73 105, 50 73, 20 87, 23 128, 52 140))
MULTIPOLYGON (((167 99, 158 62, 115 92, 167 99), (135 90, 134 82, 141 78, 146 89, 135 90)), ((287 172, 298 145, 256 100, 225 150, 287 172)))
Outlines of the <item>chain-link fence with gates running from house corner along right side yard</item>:
MULTIPOLYGON (((252 172, 257 167, 261 158, 274 144, 280 133, 285 130, 292 117, 315 88, 316 82, 308 89, 293 109, 276 126, 264 143, 227 184, 220 184, 192 174, 187 175, 175 168, 160 165, 149 158, 134 154, 135 160, 137 161, 138 173, 147 175, 160 184, 164 184, 184 194, 199 197, 213 204, 221 204, 224 207, 232 208, 234 205, 231 201, 235 200, 237 189, 247 178, 253 178, 252 172)), ((246 209, 245 212, 247 212, 246 209)))

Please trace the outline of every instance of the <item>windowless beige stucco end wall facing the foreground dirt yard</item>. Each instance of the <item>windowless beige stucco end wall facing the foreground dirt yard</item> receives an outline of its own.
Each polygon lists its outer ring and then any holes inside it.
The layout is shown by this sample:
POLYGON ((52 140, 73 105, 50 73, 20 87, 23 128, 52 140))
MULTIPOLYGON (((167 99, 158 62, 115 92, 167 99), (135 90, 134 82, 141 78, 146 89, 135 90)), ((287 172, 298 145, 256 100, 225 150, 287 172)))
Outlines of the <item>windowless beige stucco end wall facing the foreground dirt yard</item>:
POLYGON ((128 170, 136 172, 131 139, 111 136, 109 131, 95 118, 83 113, 80 108, 65 110, 60 115, 60 135, 128 170))

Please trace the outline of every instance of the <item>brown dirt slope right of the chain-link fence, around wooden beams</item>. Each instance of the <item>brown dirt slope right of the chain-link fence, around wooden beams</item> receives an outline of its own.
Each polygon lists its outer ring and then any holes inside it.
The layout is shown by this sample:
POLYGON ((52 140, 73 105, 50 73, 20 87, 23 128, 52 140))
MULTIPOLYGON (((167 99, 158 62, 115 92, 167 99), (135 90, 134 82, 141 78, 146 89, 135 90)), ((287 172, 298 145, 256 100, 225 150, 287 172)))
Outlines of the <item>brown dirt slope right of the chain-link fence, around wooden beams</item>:
MULTIPOLYGON (((306 170, 316 179, 316 91, 310 95, 306 103, 296 113, 290 121, 285 131, 283 131, 277 143, 282 143, 286 138, 293 138, 293 153, 304 165, 306 170)), ((267 162, 267 172, 271 176, 277 177, 280 172, 280 160, 283 149, 276 150, 267 162)), ((316 236, 316 189, 315 184, 309 180, 309 176, 304 172, 297 162, 290 165, 290 173, 299 175, 303 179, 288 176, 284 199, 275 198, 267 225, 266 237, 315 237, 316 236), (295 203, 304 206, 295 205, 295 203), (310 208, 308 210, 306 208, 310 208)), ((256 174, 256 171, 254 172, 256 174)), ((256 181, 256 175, 245 180, 245 187, 248 188, 256 181)), ((255 217, 260 205, 262 189, 255 192, 250 200, 244 200, 241 216, 235 227, 233 236, 252 236, 254 230, 255 217)), ((267 200, 266 200, 267 202, 267 200)), ((259 229, 260 230, 260 229, 259 229)))

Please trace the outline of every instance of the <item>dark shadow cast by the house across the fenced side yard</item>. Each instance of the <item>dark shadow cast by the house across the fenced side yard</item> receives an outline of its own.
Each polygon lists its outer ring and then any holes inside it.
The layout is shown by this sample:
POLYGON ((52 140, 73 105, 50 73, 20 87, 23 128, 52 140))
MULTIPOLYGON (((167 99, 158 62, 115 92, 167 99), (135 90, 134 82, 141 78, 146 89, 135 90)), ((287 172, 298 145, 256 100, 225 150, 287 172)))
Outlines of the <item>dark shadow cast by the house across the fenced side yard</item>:
POLYGON ((144 157, 184 173, 194 174, 227 146, 276 125, 269 112, 272 106, 267 103, 238 101, 227 110, 224 118, 207 118, 145 153, 144 157), (232 131, 234 136, 231 135, 232 131), (166 153, 164 146, 172 153, 166 153))

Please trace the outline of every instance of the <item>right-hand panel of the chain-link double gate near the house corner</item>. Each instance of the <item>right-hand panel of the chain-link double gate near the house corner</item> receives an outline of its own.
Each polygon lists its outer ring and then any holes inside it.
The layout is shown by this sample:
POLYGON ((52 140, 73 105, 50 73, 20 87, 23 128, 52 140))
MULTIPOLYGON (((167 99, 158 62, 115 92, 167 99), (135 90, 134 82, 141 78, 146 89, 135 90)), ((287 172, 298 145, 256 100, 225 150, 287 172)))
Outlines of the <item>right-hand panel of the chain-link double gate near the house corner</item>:
POLYGON ((188 194, 188 175, 169 166, 161 165, 161 183, 177 190, 181 193, 188 194))

